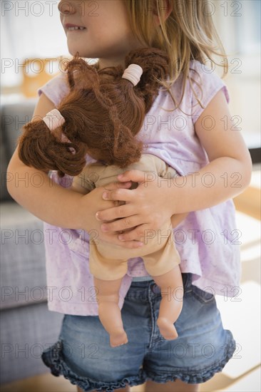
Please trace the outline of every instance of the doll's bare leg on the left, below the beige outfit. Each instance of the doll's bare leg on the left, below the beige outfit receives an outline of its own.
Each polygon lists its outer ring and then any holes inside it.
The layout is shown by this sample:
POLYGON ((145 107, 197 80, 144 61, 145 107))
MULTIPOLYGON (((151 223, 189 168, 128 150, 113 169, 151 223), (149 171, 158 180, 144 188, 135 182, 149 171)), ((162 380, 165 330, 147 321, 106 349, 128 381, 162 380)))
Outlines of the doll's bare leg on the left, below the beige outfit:
POLYGON ((110 335, 112 347, 128 343, 126 332, 123 329, 121 309, 118 306, 121 279, 101 280, 94 277, 97 287, 96 299, 98 300, 98 316, 104 328, 110 335))

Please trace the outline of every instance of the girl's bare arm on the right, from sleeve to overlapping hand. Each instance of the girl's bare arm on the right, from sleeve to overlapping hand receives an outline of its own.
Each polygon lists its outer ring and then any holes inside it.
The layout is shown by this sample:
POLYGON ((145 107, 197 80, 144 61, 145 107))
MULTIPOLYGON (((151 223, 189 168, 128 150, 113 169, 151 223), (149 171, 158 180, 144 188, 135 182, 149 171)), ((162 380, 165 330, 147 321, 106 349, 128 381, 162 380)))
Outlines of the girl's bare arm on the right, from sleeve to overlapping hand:
POLYGON ((222 91, 211 100, 195 123, 195 132, 205 148, 210 163, 185 177, 176 177, 171 187, 157 181, 145 182, 144 175, 131 170, 118 176, 120 181, 135 181, 135 190, 104 192, 106 200, 123 200, 126 205, 98 212, 105 232, 135 228, 121 234, 122 240, 138 239, 145 229, 158 229, 171 215, 203 210, 240 194, 250 183, 252 163, 242 135, 230 120, 231 115, 222 91), (215 127, 204 129, 204 118, 211 116, 215 127), (227 130, 224 119, 228 120, 227 130))

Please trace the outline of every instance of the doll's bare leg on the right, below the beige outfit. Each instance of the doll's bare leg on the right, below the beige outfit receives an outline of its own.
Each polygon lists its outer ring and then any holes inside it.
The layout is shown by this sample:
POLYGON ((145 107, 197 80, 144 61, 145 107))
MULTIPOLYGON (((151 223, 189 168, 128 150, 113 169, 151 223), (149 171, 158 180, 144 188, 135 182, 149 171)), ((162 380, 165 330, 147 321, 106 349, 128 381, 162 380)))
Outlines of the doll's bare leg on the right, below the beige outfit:
POLYGON ((160 287, 162 296, 157 321, 160 334, 167 340, 176 339, 178 333, 174 323, 178 319, 183 306, 183 280, 180 267, 177 265, 169 272, 153 277, 153 279, 160 287))

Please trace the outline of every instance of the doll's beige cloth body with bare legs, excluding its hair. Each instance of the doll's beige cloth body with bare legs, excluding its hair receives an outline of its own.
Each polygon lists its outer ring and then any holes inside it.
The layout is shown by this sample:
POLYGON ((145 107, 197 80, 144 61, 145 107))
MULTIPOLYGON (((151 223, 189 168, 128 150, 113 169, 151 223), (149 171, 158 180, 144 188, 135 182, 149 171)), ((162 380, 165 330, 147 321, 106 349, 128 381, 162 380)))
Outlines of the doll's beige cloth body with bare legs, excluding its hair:
MULTIPOLYGON (((126 170, 137 169, 144 172, 145 179, 151 181, 172 181, 176 172, 155 155, 144 154, 127 169, 118 166, 106 166, 102 163, 86 165, 80 175, 74 177, 73 189, 87 193, 94 187, 105 186, 117 181, 117 175, 126 170)), ((101 239, 90 242, 89 263, 98 289, 98 315, 104 328, 110 334, 111 346, 128 342, 118 307, 118 292, 121 279, 128 269, 127 261, 133 257, 142 257, 145 269, 161 289, 162 301, 158 326, 165 339, 175 339, 178 334, 173 323, 178 319, 182 308, 183 282, 178 264, 180 257, 173 241, 171 220, 155 231, 144 233, 144 245, 141 249, 126 249, 101 239), (180 289, 177 294, 177 289, 180 289), (163 294, 164 293, 164 294, 163 294), (168 293, 167 296, 164 296, 168 293), (170 293, 170 295, 169 295, 170 293)))

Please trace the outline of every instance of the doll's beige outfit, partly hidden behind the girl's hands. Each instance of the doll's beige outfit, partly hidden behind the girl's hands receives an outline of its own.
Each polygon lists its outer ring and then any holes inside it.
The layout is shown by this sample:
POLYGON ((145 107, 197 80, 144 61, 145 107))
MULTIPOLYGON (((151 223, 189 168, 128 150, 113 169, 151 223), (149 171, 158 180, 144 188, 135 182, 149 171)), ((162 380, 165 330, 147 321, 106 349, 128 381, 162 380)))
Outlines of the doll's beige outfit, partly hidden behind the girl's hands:
MULTIPOLYGON (((117 181, 117 175, 126 170, 141 170, 151 181, 172 181, 176 171, 155 155, 143 154, 140 160, 126 169, 116 165, 106 166, 103 163, 86 165, 80 175, 74 178, 76 189, 85 188, 86 193, 94 187, 104 186, 117 181)), ((122 278, 128 269, 127 261, 133 257, 142 257, 145 269, 151 276, 159 276, 169 272, 180 263, 180 257, 173 241, 170 220, 158 230, 150 230, 143 237, 143 247, 126 249, 115 244, 96 239, 90 242, 90 272, 102 280, 122 278)))

